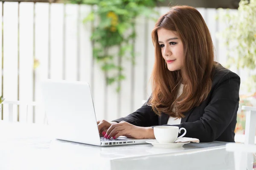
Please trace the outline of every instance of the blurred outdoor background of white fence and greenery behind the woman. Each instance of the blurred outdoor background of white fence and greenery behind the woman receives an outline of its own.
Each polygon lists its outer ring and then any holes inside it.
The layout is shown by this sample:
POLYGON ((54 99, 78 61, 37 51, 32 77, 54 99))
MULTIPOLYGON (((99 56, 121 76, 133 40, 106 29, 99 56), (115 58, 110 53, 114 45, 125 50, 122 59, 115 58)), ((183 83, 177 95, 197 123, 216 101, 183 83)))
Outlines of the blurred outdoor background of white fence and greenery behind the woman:
MULTIPOLYGON (((89 82, 98 120, 140 108, 151 94, 151 30, 172 5, 198 9, 215 61, 241 77, 240 105, 256 106, 255 0, 6 0, 0 2, 0 94, 14 105, 13 121, 47 124, 40 89, 46 78, 89 82)), ((1 108, 8 121, 10 107, 1 108)), ((236 133, 244 126, 240 107, 236 133)))

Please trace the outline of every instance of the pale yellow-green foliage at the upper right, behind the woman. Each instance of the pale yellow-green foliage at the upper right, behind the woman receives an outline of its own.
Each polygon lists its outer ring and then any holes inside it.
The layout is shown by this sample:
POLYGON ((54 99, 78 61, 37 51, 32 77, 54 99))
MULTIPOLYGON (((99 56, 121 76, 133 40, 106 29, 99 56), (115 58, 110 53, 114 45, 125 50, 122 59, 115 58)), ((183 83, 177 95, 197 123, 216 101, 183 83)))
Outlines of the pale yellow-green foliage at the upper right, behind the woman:
POLYGON ((241 0, 238 11, 230 13, 218 9, 218 18, 227 23, 227 28, 219 34, 227 47, 227 66, 247 69, 249 79, 245 83, 249 92, 256 91, 256 0, 241 0))

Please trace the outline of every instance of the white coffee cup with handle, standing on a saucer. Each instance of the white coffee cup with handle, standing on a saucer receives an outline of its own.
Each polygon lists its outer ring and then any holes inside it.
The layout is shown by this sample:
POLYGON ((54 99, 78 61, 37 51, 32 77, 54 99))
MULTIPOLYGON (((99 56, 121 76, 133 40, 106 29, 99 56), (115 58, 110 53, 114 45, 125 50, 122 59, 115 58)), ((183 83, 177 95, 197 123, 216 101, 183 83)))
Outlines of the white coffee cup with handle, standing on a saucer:
POLYGON ((180 129, 177 126, 154 127, 154 136, 161 144, 174 143, 177 138, 182 138, 184 135, 186 135, 186 129, 184 127, 180 129), (181 130, 184 130, 185 132, 180 137, 178 137, 178 134, 181 130))

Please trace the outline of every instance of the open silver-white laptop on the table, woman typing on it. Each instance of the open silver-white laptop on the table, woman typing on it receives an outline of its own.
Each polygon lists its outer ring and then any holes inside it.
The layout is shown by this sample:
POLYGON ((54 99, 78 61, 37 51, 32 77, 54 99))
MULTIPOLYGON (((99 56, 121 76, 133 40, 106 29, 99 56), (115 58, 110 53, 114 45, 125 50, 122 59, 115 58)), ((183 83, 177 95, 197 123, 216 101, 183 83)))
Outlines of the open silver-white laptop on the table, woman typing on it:
POLYGON ((146 139, 105 139, 99 134, 87 82, 47 79, 41 82, 41 92, 47 121, 56 139, 102 147, 146 144, 146 139))

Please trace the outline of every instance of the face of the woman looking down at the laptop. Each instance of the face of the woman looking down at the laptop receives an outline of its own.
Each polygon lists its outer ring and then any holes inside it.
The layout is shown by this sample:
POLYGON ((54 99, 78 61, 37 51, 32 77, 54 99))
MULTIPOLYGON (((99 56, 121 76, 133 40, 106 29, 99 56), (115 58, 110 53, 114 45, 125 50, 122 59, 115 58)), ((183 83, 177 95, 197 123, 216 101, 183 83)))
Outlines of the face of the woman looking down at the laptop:
POLYGON ((175 31, 160 28, 157 30, 158 43, 166 65, 170 71, 183 68, 183 43, 175 31))

